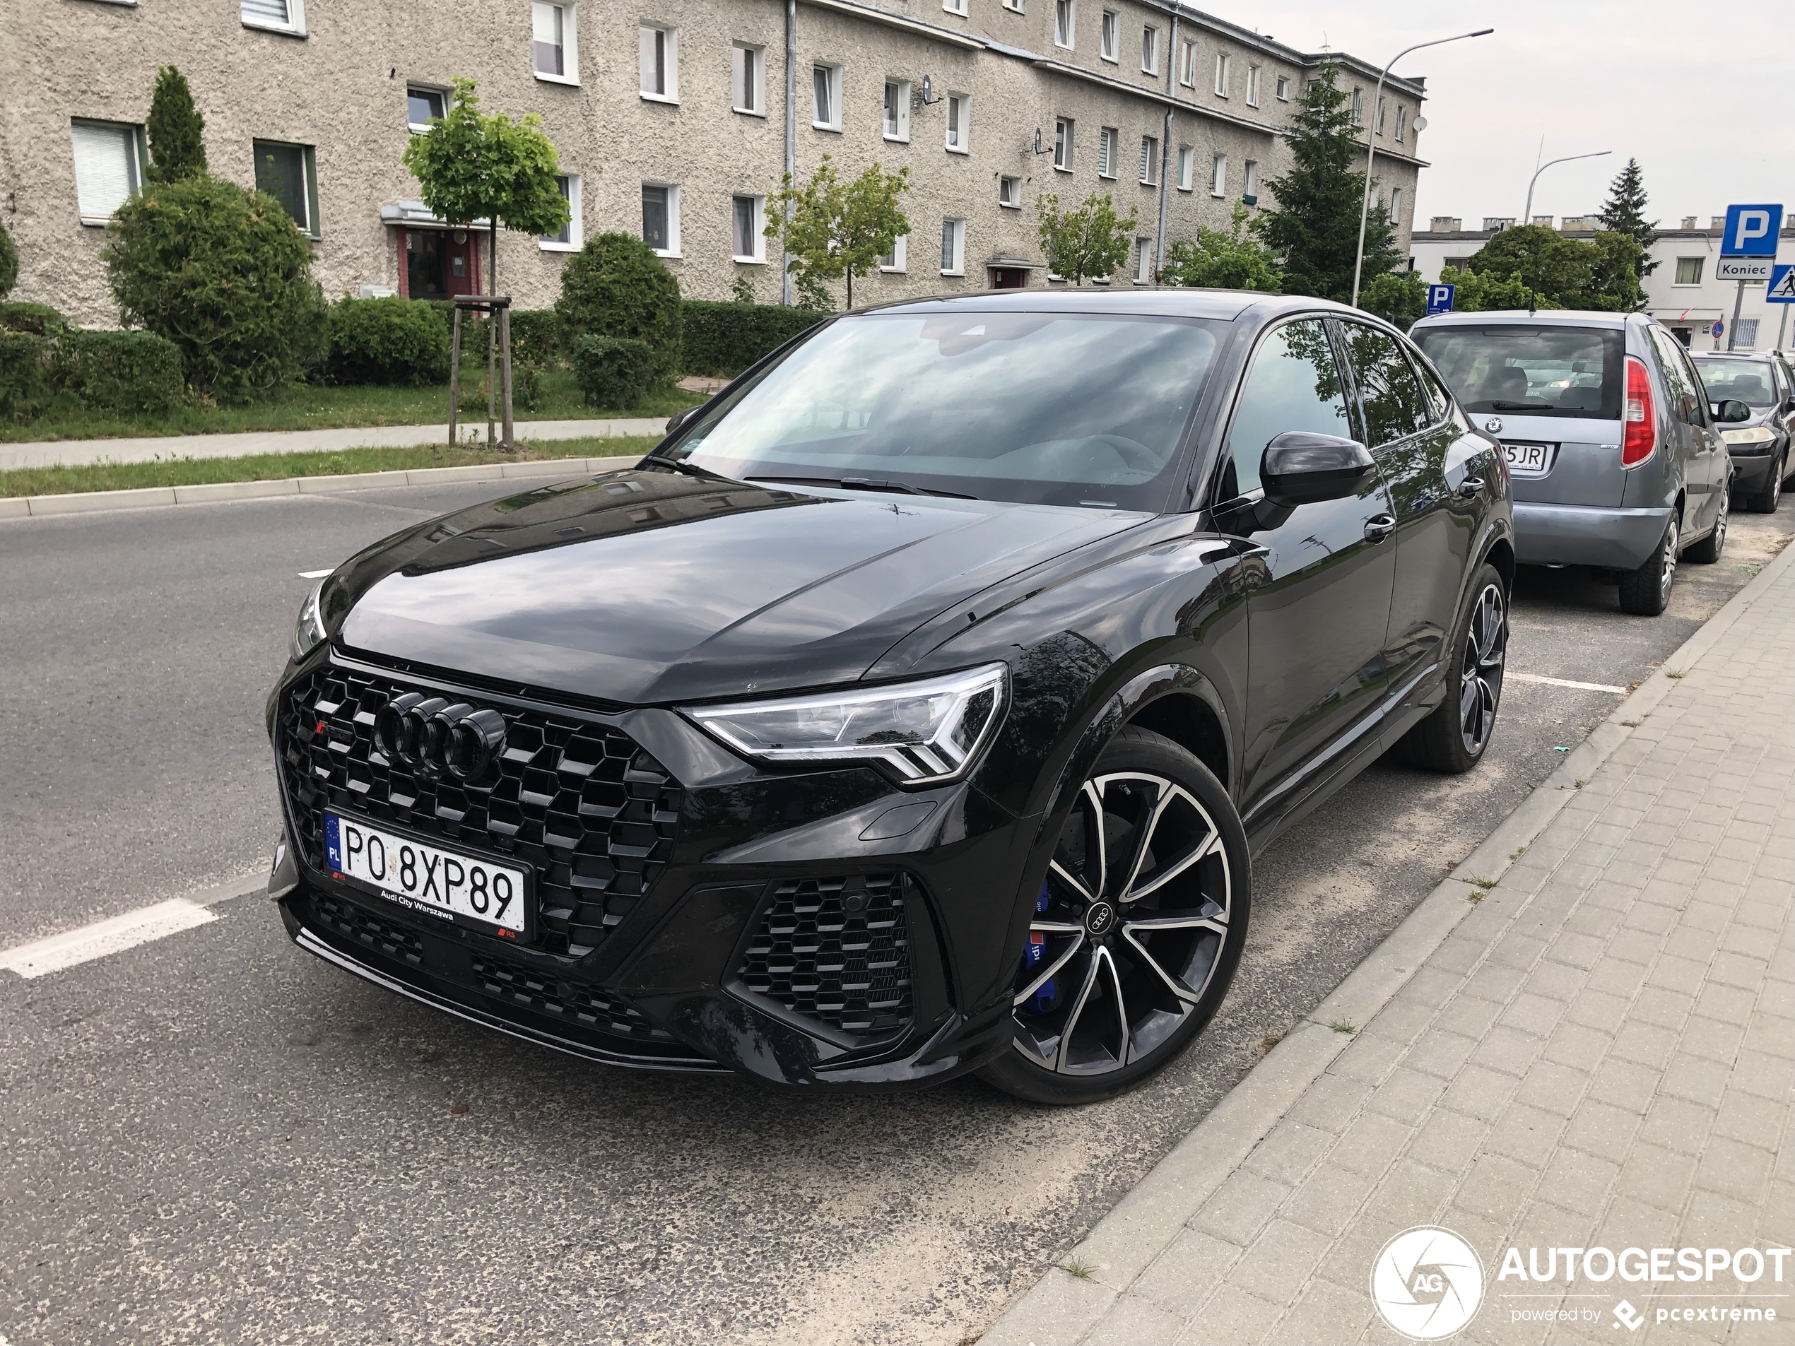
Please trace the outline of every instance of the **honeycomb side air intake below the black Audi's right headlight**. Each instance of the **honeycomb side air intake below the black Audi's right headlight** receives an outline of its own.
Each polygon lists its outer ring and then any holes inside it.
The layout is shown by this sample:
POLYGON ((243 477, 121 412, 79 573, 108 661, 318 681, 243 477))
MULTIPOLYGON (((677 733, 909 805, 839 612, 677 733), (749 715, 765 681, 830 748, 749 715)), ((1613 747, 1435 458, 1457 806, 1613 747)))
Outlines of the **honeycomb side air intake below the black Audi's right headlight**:
POLYGON ((851 1034, 910 1025, 910 933, 901 874, 786 879, 774 890, 738 976, 793 1014, 851 1034))

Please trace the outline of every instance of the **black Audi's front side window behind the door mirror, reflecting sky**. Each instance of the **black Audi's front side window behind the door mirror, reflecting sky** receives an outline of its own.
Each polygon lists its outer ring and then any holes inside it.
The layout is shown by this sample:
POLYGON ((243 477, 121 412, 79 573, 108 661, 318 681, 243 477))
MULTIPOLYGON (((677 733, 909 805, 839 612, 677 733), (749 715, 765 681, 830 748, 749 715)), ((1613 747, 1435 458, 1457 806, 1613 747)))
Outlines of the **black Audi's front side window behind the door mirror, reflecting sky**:
POLYGON ((1346 393, 1319 318, 1274 327, 1253 354, 1253 368, 1228 422, 1228 465, 1219 499, 1246 495, 1258 486, 1265 445, 1285 431, 1352 438, 1346 393))

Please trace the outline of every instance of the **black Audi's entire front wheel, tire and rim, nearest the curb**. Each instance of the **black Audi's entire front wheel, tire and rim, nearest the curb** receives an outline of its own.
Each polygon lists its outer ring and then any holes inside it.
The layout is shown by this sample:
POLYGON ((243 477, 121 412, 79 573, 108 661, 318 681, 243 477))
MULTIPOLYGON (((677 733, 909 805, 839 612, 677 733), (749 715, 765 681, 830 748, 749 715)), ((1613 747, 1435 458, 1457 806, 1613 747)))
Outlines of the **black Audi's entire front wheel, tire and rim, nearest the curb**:
POLYGON ((1016 951, 1014 1039, 980 1075, 1068 1106, 1160 1071, 1228 994, 1251 878, 1240 817, 1210 768, 1161 734, 1120 730, 1054 843, 1016 951))

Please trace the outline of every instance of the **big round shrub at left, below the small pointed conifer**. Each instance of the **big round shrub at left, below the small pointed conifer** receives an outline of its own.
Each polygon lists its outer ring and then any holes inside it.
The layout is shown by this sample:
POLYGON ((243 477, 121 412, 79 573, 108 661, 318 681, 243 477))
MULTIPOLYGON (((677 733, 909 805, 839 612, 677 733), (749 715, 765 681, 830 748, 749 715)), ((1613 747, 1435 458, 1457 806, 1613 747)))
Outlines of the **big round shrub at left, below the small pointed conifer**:
POLYGON ((180 346, 196 391, 248 400, 323 357, 328 316, 312 246, 275 197, 183 178, 126 201, 106 235, 126 323, 180 346))

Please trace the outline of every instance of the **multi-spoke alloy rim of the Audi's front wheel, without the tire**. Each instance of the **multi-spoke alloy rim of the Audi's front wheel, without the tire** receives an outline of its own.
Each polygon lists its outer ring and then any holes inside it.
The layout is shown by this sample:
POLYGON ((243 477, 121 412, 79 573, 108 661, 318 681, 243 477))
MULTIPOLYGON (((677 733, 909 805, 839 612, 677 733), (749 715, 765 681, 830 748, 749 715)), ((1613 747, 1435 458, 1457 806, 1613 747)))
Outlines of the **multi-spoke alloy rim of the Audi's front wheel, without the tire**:
POLYGON ((1221 829, 1147 772, 1084 782, 1029 924, 1016 1050, 1063 1075, 1122 1070, 1203 1001, 1231 937, 1221 829))

